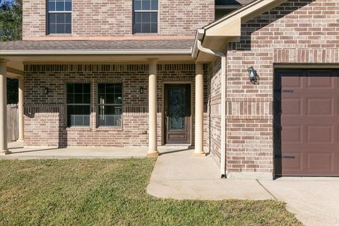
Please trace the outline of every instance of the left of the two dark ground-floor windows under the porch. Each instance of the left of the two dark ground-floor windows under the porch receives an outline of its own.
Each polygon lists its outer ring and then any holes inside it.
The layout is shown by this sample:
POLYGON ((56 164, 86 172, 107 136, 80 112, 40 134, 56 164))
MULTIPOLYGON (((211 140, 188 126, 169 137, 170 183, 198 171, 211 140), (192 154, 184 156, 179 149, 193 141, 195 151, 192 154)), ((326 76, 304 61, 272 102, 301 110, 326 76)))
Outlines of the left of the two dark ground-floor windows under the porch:
POLYGON ((67 89, 67 126, 90 126, 90 83, 72 83, 67 89))

